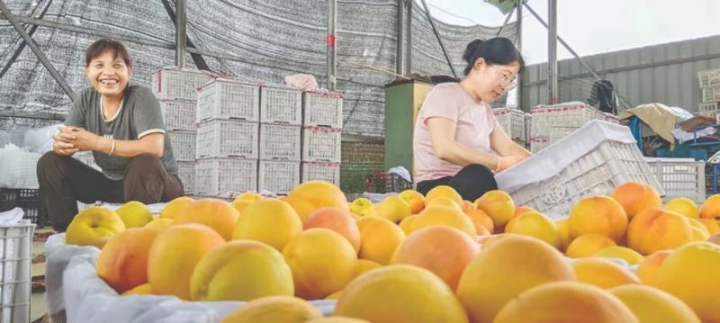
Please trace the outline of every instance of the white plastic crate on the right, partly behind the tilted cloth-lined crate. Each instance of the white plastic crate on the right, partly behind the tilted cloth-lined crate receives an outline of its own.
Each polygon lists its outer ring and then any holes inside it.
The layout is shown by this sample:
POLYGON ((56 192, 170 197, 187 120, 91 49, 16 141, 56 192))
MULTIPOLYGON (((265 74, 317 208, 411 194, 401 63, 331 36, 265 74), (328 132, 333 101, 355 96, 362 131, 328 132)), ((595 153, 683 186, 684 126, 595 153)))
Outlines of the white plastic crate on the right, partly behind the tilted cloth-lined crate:
POLYGON ((693 158, 650 158, 647 165, 665 191, 663 200, 687 197, 705 202, 705 162, 693 158))

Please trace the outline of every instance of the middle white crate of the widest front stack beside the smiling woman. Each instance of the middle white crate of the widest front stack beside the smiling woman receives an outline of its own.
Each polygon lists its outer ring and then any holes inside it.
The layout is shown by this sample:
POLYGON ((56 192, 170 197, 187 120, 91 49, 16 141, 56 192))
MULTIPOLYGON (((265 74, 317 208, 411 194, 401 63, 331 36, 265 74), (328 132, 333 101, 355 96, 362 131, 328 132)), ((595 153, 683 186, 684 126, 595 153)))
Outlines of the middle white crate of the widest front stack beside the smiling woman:
POLYGON ((195 157, 257 159, 258 123, 212 120, 198 124, 195 157))

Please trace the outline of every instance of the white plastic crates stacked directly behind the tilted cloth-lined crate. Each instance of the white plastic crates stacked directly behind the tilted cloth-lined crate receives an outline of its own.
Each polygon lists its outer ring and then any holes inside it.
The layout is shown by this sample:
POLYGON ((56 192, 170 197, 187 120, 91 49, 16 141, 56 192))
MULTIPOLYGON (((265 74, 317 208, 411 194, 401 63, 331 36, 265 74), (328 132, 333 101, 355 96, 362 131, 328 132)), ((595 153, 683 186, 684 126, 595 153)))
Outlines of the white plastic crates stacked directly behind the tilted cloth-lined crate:
POLYGON ((533 116, 530 150, 534 153, 580 129, 587 121, 619 122, 615 115, 581 102, 536 105, 530 113, 533 116))

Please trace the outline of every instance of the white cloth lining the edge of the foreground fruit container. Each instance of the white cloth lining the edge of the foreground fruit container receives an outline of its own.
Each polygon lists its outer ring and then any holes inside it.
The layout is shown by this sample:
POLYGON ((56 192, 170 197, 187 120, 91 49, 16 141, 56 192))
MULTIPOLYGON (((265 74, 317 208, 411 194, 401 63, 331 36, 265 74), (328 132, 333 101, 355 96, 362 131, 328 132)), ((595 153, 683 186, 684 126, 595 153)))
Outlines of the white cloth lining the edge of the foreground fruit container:
MULTIPOLYGON (((220 322, 241 301, 181 301, 174 296, 120 296, 97 276, 96 247, 65 245, 65 234, 45 244, 46 305, 50 315, 66 310, 68 322, 220 322)), ((330 315, 335 301, 311 303, 330 315)))

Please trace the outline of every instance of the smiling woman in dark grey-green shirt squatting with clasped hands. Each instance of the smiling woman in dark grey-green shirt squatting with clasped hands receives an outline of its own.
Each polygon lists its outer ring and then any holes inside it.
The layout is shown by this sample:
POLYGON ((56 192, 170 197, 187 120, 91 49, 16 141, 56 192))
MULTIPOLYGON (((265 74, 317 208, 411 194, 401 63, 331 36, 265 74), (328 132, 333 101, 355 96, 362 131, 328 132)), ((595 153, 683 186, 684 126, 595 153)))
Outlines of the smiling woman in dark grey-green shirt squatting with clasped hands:
POLYGON ((160 105, 150 90, 128 85, 130 55, 121 42, 97 40, 85 53, 86 88, 38 161, 49 220, 59 231, 77 201, 167 202, 183 194, 160 105), (91 150, 102 173, 71 157, 91 150))

